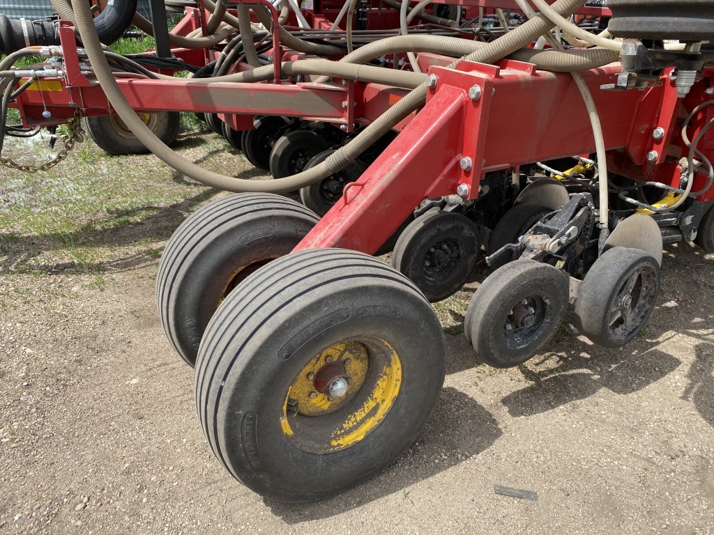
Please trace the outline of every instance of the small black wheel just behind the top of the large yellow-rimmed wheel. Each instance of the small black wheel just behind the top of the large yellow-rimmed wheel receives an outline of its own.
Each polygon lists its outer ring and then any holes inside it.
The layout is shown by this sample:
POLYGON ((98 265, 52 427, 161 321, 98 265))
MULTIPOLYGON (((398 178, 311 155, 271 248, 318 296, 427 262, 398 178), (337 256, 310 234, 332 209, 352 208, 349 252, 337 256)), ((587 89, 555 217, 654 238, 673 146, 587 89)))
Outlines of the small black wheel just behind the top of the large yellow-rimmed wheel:
POLYGON ((429 210, 401 233, 392 265, 436 302, 458 292, 480 256, 481 241, 470 219, 429 210))

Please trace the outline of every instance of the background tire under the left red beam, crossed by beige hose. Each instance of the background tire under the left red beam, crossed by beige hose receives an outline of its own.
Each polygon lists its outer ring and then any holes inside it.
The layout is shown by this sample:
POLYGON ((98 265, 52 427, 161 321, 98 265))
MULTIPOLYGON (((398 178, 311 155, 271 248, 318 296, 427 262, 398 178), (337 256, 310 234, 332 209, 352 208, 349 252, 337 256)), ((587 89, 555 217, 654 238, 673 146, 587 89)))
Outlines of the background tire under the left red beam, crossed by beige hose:
MULTIPOLYGON (((84 118, 84 128, 94 143, 102 151, 114 156, 128 156, 130 154, 149 154, 149 149, 134 133, 126 131, 116 115, 100 115, 84 118)), ((166 145, 176 141, 178 128, 181 127, 181 114, 177 111, 157 111, 151 113, 149 128, 157 138, 166 145)))

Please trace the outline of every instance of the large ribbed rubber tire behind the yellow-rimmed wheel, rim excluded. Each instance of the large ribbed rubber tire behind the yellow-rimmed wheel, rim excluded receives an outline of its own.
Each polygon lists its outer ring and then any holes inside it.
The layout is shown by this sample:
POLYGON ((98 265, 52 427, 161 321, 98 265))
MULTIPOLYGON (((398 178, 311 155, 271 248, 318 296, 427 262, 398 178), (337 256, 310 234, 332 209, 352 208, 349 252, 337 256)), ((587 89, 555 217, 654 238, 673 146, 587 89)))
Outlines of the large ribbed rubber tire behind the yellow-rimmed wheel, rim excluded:
POLYGON ((317 221, 281 195, 243 193, 204 206, 178 226, 161 255, 156 303, 166 336, 183 360, 195 364, 236 266, 290 253, 317 221))

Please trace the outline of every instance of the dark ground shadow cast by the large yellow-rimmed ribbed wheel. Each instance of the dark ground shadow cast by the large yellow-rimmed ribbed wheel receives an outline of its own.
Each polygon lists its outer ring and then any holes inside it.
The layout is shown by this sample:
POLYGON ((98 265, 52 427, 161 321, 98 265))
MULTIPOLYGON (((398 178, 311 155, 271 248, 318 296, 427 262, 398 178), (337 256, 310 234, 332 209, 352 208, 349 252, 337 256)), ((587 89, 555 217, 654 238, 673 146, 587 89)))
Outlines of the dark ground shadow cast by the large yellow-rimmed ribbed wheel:
POLYGON ((485 451, 501 434, 490 412, 466 394, 447 387, 416 443, 374 479, 314 504, 265 503, 288 524, 298 524, 329 518, 399 491, 408 499, 410 486, 485 451))

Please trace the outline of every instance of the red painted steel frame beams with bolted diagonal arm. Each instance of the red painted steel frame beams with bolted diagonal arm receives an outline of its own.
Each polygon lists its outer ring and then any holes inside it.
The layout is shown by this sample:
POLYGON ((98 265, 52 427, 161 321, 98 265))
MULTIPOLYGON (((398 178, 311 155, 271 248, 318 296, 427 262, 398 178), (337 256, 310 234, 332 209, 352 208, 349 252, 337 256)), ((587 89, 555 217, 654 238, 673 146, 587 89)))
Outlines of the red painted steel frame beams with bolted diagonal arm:
MULTIPOLYGON (((54 88, 44 83, 21 95, 18 107, 26 123, 61 123, 77 106, 85 115, 111 112, 101 88, 80 72, 70 27, 61 28, 61 39, 66 75, 54 88), (37 91, 39 87, 45 89, 37 91), (49 121, 42 118, 44 106, 53 115, 49 121)), ((594 152, 590 121, 569 74, 538 71, 531 63, 511 60, 496 65, 462 61, 456 69, 446 68, 452 60, 443 56, 421 54, 419 61, 437 78, 436 86, 428 90, 426 106, 396 126, 401 131, 396 140, 356 183, 347 186, 343 198, 296 250, 343 247, 374 253, 425 198, 453 195, 462 183, 468 185, 468 198, 477 198, 485 173, 594 152), (468 96, 473 86, 480 88, 477 100, 468 96), (461 168, 462 158, 471 159, 471 168, 461 168)), ((601 90, 618 72, 620 66, 613 64, 583 73, 600 113, 610 170, 635 180, 678 186, 678 160, 685 155, 685 146, 677 121, 685 111, 709 100, 714 69, 705 71, 704 80, 685 99, 677 97, 668 72, 645 91, 601 90), (652 136, 658 127, 665 131, 660 140, 652 136), (658 152, 657 161, 648 163, 645 154, 653 150, 658 152)), ((275 82, 118 81, 137 111, 203 111, 236 118, 297 116, 342 124, 348 131, 354 123, 371 122, 406 94, 375 83, 275 82)), ((714 106, 700 115, 692 123, 690 138, 714 116, 714 106)), ((714 160, 714 132, 703 136, 699 149, 714 160)), ((703 188, 705 179, 698 174, 694 190, 703 188)), ((698 200, 714 200, 714 188, 698 200)))

